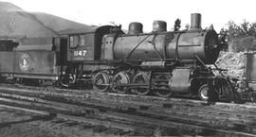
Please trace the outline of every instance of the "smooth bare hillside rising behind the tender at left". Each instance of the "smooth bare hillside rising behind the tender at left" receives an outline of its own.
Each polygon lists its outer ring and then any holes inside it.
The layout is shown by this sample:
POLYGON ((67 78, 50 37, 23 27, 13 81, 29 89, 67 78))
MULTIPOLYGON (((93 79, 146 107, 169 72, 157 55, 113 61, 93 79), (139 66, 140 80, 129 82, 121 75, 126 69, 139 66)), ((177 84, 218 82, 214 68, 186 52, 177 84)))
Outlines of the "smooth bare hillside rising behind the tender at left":
POLYGON ((92 27, 43 12, 27 12, 7 2, 0 2, 0 18, 1 39, 45 38, 64 29, 92 27))

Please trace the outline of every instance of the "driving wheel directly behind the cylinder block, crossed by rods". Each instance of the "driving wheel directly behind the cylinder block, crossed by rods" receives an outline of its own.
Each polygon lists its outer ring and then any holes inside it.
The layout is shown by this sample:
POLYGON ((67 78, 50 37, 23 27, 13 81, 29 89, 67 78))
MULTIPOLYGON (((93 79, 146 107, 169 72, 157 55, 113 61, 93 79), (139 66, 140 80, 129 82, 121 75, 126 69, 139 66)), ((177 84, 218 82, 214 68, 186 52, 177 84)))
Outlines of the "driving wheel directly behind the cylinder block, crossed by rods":
POLYGON ((153 80, 153 83, 155 85, 155 94, 160 97, 170 97, 174 93, 171 92, 169 89, 169 80, 171 76, 170 75, 160 75, 156 76, 153 80))

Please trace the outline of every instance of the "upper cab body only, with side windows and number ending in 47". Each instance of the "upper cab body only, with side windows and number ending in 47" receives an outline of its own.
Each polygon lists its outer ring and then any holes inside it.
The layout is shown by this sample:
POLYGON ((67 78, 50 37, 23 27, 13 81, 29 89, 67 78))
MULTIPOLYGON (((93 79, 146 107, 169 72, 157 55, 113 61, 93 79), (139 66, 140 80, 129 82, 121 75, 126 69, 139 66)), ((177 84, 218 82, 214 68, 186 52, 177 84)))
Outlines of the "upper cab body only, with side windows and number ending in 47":
POLYGON ((90 30, 64 30, 60 37, 65 38, 66 61, 78 62, 101 59, 101 42, 104 35, 111 33, 114 26, 92 27, 90 30))

